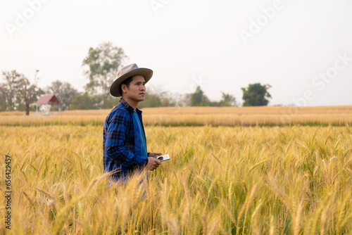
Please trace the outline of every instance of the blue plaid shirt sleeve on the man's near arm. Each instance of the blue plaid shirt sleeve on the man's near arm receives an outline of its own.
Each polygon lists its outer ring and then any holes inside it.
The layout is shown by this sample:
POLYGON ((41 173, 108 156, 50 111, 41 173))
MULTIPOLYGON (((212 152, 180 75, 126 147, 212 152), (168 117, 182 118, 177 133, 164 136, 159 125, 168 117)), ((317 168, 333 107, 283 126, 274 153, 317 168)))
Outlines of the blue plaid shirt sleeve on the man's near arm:
POLYGON ((129 150, 131 148, 127 149, 128 146, 134 145, 134 139, 128 137, 131 127, 128 115, 127 110, 117 110, 106 128, 106 156, 120 165, 121 170, 143 167, 148 163, 148 158, 133 153, 129 150))

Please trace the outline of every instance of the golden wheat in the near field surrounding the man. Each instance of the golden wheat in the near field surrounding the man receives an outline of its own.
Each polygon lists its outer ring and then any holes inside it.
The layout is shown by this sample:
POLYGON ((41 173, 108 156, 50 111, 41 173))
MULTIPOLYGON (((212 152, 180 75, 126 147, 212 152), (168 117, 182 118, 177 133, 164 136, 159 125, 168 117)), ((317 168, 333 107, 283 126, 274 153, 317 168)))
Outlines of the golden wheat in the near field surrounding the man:
MULTIPOLYGON (((0 153, 11 155, 13 193, 11 231, 1 216, 0 234, 352 233, 348 125, 148 125, 148 150, 171 159, 149 172, 143 200, 138 175, 107 186, 101 126, 53 124, 2 120, 0 153)), ((1 215, 4 175, 1 158, 1 215)))

